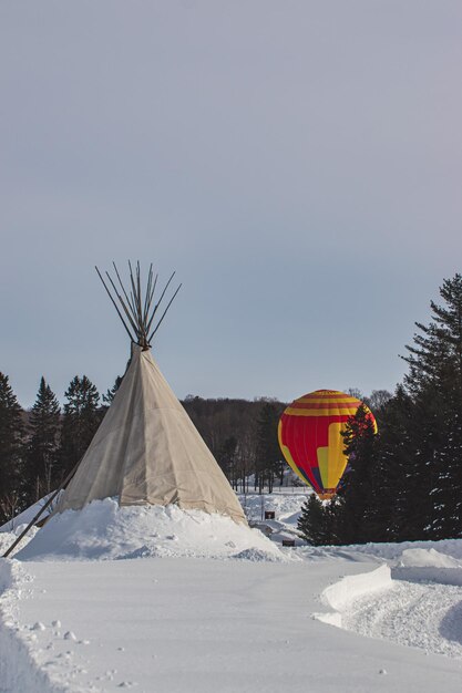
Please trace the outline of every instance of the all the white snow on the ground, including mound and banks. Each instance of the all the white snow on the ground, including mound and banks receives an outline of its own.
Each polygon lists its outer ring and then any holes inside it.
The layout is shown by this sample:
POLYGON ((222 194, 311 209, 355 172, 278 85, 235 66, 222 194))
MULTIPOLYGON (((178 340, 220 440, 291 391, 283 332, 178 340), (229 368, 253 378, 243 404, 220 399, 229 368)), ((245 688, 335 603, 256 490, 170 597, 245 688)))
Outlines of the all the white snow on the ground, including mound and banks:
MULTIPOLYGON (((264 499, 274 537, 296 496, 264 499)), ((1 693, 462 689, 462 541, 284 549, 222 517, 92 506, 0 560, 1 693)))

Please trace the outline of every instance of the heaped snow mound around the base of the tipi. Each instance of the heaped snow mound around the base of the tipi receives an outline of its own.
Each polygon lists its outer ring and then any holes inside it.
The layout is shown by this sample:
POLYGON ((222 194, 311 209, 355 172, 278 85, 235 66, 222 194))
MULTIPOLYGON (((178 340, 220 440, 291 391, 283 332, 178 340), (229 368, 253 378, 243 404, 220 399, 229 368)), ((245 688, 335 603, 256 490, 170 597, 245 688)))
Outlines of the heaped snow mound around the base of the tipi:
POLYGON ((112 498, 53 516, 19 560, 120 560, 145 557, 289 560, 260 531, 229 517, 170 506, 123 506, 112 498), (247 554, 246 554, 247 552, 247 554))

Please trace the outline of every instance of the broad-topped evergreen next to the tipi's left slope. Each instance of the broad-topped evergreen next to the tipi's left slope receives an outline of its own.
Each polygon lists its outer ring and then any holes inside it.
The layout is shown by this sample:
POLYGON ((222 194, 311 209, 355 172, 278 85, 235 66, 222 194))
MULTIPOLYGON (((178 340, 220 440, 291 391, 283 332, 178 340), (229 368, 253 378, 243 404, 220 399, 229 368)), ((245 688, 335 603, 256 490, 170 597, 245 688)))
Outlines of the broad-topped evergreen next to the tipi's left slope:
POLYGON ((102 420, 100 394, 86 375, 75 375, 64 396, 68 402, 62 422, 59 480, 83 456, 102 420))

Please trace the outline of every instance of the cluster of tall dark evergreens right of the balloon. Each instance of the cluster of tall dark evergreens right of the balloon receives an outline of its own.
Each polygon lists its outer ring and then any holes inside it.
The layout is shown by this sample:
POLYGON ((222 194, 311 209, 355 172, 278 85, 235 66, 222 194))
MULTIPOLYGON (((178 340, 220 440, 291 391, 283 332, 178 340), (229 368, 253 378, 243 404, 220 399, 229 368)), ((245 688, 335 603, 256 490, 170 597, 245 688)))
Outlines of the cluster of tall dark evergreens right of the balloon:
POLYGON ((304 505, 310 544, 462 537, 462 276, 443 281, 428 324, 415 323, 393 396, 360 407, 345 433, 349 463, 337 496, 304 505))

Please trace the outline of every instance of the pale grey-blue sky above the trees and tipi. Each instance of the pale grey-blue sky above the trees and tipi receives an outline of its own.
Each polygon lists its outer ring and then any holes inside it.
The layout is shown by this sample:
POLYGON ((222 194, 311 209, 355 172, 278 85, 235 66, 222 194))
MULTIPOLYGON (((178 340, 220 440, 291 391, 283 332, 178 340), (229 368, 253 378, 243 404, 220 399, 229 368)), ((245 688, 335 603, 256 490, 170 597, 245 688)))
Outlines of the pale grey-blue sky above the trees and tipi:
POLYGON ((183 282, 178 396, 392 390, 462 271, 460 0, 0 3, 0 371, 100 390, 94 265, 183 282))

